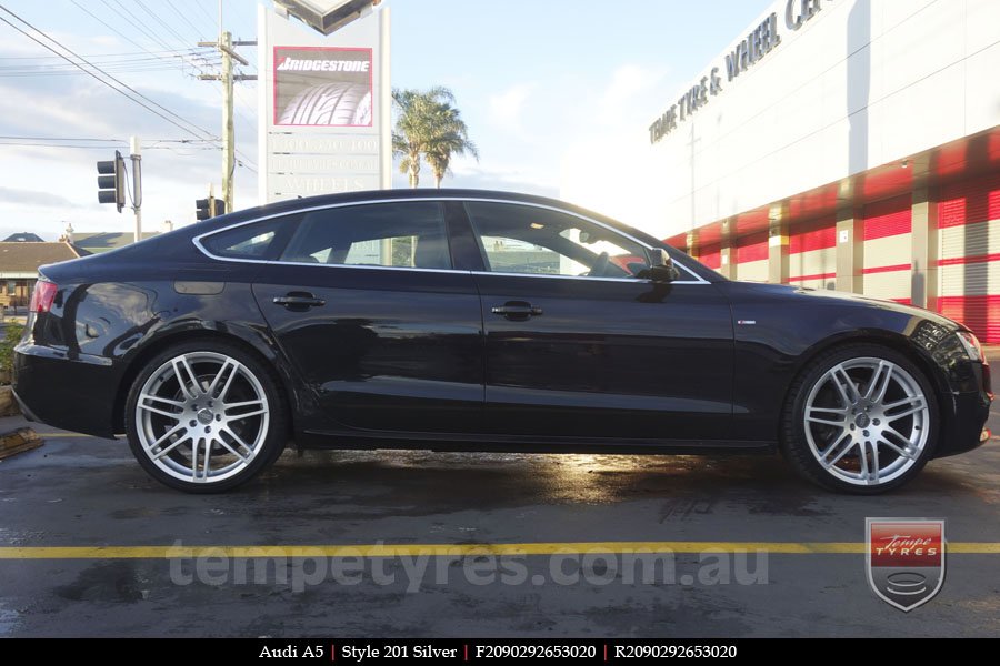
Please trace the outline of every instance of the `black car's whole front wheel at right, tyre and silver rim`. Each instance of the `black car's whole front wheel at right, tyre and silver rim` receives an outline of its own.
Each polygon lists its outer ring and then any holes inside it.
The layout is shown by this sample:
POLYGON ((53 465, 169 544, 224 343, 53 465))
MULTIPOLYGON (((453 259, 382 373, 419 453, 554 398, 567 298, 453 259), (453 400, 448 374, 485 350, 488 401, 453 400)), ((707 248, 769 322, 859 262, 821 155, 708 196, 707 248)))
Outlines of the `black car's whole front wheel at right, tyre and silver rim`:
POLYGON ((904 355, 851 345, 813 361, 791 387, 782 450, 806 478, 876 494, 920 472, 937 446, 938 403, 904 355))

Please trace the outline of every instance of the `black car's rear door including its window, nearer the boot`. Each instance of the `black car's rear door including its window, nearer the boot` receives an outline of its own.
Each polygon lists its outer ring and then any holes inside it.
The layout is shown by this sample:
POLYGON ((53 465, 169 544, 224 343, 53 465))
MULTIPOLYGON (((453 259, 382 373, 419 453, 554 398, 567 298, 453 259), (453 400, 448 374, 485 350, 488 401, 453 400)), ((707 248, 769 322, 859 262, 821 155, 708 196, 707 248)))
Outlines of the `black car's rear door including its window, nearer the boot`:
POLYGON ((311 428, 480 430, 479 295, 454 265, 443 202, 302 214, 253 293, 314 397, 311 428))

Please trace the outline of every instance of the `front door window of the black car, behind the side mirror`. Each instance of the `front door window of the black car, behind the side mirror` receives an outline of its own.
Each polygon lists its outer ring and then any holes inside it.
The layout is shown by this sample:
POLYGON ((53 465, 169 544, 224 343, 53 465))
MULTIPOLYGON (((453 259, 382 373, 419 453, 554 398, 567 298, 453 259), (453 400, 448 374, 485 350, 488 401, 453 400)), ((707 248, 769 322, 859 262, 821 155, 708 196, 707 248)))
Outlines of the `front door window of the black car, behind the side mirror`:
POLYGON ((477 201, 466 209, 494 273, 629 279, 649 268, 641 244, 576 215, 477 201))

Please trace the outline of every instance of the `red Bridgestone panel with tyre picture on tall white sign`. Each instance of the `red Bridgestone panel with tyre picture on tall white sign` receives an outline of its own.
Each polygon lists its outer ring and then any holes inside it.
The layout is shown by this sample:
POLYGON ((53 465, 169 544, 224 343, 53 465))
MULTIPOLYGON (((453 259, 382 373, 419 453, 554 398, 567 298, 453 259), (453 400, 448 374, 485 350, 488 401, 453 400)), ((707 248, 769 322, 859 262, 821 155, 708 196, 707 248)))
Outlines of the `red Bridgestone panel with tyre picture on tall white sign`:
POLYGON ((372 124, 371 49, 274 47, 274 124, 372 124))

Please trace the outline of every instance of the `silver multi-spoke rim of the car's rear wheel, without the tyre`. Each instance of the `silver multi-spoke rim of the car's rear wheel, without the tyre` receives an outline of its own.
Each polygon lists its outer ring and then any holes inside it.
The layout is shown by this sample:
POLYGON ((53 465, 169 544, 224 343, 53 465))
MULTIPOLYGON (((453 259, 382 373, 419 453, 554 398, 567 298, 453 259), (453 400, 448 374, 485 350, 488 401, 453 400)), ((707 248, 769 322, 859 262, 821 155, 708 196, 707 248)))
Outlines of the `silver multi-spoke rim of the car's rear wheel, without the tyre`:
POLYGON ((243 471, 263 447, 270 410, 263 386, 242 363, 218 352, 170 359, 142 385, 136 431, 160 470, 190 483, 243 471))

